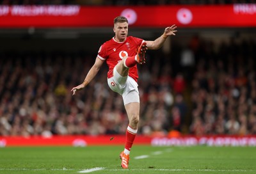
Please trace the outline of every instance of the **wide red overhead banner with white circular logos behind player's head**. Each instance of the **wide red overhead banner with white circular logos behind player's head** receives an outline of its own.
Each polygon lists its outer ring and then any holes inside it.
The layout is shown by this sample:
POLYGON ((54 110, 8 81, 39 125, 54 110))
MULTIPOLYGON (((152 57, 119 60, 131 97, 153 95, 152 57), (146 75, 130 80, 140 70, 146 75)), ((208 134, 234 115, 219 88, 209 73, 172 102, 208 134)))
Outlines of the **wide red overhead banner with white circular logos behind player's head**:
POLYGON ((124 15, 130 26, 181 28, 256 27, 256 4, 168 6, 0 6, 0 28, 113 27, 124 15))

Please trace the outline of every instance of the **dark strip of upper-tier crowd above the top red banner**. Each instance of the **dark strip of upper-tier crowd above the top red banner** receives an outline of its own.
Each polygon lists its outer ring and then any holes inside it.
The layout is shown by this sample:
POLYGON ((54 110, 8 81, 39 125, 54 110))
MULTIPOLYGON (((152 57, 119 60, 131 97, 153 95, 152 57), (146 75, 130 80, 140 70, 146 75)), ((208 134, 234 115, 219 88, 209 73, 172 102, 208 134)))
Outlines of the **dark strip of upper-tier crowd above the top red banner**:
POLYGON ((1 4, 166 5, 256 3, 256 0, 2 0, 1 4))

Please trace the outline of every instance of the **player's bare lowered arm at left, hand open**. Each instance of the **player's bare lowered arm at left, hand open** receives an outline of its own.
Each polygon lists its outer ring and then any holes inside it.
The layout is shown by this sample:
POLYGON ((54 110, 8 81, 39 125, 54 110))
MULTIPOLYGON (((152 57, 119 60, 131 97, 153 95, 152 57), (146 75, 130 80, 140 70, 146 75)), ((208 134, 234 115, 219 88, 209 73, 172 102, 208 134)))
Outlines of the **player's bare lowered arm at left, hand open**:
POLYGON ((72 88, 73 95, 76 95, 76 91, 82 90, 87 84, 89 84, 95 75, 99 72, 100 67, 102 66, 104 61, 99 58, 96 58, 94 65, 90 68, 88 74, 86 75, 83 83, 79 84, 78 86, 72 88))

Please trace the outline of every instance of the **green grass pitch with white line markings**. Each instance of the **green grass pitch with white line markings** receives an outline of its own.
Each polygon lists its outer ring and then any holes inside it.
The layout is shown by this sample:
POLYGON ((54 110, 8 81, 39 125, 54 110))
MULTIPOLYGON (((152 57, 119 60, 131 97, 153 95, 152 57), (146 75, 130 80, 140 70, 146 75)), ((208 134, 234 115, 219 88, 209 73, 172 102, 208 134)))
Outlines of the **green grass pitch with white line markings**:
POLYGON ((256 173, 255 147, 132 147, 129 170, 123 146, 0 148, 0 173, 256 173))

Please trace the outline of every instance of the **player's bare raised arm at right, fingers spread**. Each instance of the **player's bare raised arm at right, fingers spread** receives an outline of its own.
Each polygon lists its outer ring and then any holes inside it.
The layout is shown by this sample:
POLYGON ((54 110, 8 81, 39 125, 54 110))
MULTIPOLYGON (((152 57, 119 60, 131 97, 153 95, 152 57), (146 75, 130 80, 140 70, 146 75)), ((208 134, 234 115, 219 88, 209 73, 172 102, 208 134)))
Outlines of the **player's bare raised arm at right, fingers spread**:
POLYGON ((168 36, 175 35, 175 33, 177 32, 176 29, 177 29, 177 26, 175 26, 175 24, 174 24, 171 27, 165 28, 163 35, 161 35, 156 40, 154 40, 154 41, 146 40, 147 48, 148 49, 159 49, 159 48, 161 48, 163 46, 164 41, 166 40, 166 38, 168 38, 168 36))

